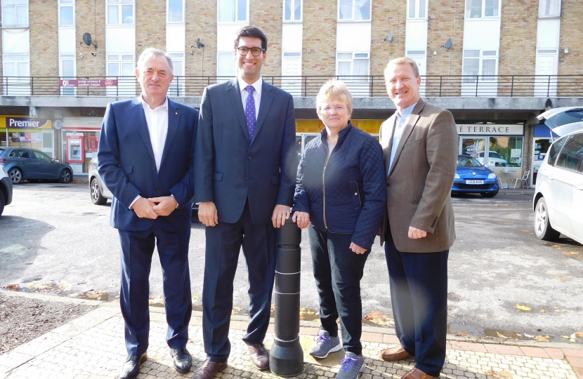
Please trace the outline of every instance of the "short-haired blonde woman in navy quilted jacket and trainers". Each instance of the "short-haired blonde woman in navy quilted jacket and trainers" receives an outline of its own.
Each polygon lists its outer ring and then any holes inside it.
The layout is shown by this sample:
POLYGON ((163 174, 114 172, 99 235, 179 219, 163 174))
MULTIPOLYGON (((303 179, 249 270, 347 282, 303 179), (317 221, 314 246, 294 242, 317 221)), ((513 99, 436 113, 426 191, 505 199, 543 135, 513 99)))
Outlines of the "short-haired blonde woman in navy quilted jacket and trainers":
POLYGON ((320 88, 316 111, 325 128, 303 152, 292 210, 298 226, 309 227, 320 295, 320 333, 310 354, 325 358, 343 346, 340 379, 357 378, 365 367, 360 279, 386 205, 381 145, 351 124, 352 102, 341 81, 320 88))

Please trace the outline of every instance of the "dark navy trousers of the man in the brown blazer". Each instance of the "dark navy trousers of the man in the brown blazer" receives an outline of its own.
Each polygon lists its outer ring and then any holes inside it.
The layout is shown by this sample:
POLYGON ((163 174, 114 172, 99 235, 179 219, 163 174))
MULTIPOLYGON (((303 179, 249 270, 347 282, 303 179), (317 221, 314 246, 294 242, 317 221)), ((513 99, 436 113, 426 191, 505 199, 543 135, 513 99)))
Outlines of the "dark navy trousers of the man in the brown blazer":
POLYGON ((415 367, 431 376, 439 376, 445 362, 449 253, 401 253, 391 230, 386 233, 395 333, 405 351, 414 355, 415 367))

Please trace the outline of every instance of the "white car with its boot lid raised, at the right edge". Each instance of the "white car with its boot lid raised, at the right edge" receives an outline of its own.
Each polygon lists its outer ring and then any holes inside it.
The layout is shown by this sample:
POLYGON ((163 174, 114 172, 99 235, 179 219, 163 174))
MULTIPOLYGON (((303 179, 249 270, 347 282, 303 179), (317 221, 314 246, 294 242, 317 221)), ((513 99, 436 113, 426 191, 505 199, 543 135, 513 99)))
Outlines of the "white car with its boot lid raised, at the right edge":
POLYGON ((573 126, 579 130, 549 147, 539 167, 532 206, 539 239, 552 241, 564 234, 583 244, 583 125, 573 126))

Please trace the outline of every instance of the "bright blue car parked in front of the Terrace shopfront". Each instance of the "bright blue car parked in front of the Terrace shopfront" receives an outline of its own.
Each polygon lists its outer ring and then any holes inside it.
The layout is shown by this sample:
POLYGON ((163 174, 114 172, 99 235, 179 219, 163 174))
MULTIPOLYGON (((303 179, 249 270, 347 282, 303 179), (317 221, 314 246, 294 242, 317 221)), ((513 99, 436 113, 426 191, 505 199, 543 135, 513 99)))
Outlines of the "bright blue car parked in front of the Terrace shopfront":
POLYGON ((480 162, 469 155, 457 156, 452 194, 480 194, 483 197, 494 197, 498 194, 496 173, 482 166, 480 162))

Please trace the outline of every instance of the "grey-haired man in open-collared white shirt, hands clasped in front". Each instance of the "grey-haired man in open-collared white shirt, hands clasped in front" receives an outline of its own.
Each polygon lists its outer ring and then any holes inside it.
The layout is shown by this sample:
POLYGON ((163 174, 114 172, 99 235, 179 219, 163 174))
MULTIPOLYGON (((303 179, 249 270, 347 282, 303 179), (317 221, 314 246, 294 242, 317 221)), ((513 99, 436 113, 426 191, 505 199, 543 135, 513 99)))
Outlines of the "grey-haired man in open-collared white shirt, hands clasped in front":
POLYGON ((198 111, 166 97, 174 76, 172 60, 163 51, 145 49, 136 77, 141 95, 107 106, 97 153, 99 174, 114 195, 110 224, 119 230, 122 245, 119 302, 128 352, 122 379, 138 375, 146 359, 155 245, 174 368, 186 373, 192 363, 185 347, 192 312, 188 242, 198 111))

